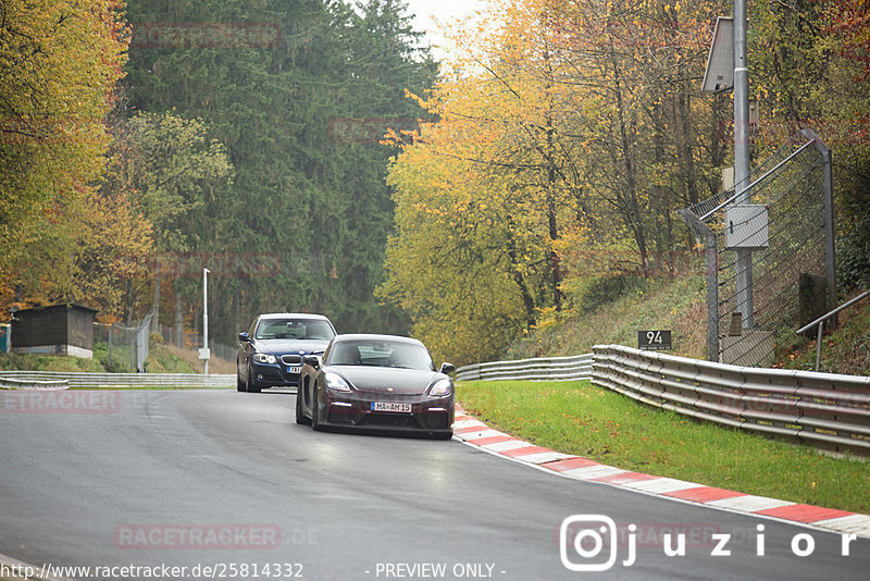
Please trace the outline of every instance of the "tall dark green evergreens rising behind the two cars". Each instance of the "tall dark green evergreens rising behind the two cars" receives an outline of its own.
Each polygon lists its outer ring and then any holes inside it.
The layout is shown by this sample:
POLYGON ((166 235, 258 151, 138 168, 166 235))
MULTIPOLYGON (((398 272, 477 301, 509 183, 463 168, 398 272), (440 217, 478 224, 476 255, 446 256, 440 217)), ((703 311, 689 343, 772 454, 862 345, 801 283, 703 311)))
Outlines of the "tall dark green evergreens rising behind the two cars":
MULTIPOLYGON (((323 312, 339 331, 407 331, 373 297, 393 221, 384 180, 393 150, 377 144, 377 129, 415 116, 405 90, 425 90, 437 70, 415 48, 406 11, 396 0, 356 10, 314 0, 128 2, 130 104, 202 119, 236 171, 195 209, 188 239, 277 265, 265 276, 213 271, 217 341, 231 343, 257 312, 285 309, 323 312)), ((185 284, 198 305, 199 282, 185 284)))

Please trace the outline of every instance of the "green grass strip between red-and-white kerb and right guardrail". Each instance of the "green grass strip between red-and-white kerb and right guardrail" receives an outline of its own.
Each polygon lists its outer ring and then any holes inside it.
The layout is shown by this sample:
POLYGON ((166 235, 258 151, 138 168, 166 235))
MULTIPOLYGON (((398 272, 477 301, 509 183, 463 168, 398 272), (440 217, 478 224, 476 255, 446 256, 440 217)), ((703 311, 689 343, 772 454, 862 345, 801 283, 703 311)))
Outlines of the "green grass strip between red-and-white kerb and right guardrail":
POLYGON ((698 423, 583 382, 460 383, 490 427, 567 454, 747 494, 870 514, 870 462, 698 423))

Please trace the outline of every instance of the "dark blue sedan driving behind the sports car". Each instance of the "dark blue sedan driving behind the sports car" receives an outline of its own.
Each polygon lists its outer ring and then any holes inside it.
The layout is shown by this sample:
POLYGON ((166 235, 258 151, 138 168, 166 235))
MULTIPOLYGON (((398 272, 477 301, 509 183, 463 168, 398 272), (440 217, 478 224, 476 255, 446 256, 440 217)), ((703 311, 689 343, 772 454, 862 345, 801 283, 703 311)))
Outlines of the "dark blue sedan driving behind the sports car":
POLYGON ((238 334, 238 391, 296 387, 302 357, 322 353, 334 336, 335 327, 322 314, 284 312, 257 317, 247 332, 238 334))

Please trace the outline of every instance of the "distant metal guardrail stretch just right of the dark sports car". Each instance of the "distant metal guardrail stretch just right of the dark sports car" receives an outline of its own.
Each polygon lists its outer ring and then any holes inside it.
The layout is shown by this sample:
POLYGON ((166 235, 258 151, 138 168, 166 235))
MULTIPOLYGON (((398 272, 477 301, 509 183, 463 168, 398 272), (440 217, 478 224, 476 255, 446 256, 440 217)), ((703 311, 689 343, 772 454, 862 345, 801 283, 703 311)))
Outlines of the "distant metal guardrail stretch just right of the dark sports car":
POLYGON ((573 357, 542 357, 515 361, 493 361, 461 367, 458 381, 573 381, 592 378, 592 354, 573 357))

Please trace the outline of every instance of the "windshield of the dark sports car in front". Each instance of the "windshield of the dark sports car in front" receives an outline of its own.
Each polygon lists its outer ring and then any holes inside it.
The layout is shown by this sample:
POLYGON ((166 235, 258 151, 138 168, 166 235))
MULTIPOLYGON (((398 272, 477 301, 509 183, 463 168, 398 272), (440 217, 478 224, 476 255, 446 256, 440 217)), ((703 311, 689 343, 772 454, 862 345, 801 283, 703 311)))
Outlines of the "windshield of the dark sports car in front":
POLYGON ((393 367, 433 371, 428 351, 422 345, 390 341, 343 341, 327 354, 330 366, 393 367))

